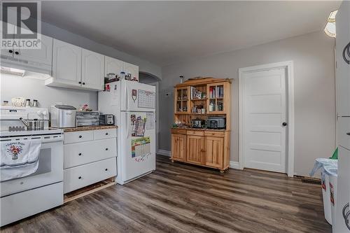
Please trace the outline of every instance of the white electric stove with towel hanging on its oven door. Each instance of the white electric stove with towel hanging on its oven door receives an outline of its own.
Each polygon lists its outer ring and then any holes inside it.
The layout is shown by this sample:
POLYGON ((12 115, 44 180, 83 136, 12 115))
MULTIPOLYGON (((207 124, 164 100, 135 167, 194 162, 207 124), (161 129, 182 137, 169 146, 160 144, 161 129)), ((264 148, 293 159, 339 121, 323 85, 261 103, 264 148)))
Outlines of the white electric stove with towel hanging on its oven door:
POLYGON ((41 140, 38 169, 33 174, 0 182, 1 226, 63 204, 63 131, 23 130, 20 118, 38 113, 48 120, 47 108, 0 106, 1 146, 12 141, 41 140), (44 113, 47 113, 43 115, 44 113), (21 130, 13 130, 21 129, 21 130), (5 143, 3 143, 5 142, 5 143))

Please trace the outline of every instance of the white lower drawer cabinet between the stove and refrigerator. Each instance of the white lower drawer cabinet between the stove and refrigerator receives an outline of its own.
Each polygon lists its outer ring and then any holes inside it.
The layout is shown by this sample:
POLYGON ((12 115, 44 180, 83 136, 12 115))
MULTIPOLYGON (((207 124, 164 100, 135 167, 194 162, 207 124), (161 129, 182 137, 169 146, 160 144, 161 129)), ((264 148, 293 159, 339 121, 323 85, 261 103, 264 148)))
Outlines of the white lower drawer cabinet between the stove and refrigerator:
POLYGON ((64 133, 64 193, 117 176, 117 129, 64 133))

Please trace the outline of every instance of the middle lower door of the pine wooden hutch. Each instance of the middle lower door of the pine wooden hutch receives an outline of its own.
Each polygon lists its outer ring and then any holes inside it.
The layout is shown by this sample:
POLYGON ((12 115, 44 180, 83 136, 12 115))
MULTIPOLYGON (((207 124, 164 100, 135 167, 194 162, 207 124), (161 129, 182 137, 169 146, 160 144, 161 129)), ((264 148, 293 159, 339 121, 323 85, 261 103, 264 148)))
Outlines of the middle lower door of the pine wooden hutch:
POLYGON ((195 164, 202 164, 202 153, 204 152, 203 136, 187 136, 186 161, 195 164))

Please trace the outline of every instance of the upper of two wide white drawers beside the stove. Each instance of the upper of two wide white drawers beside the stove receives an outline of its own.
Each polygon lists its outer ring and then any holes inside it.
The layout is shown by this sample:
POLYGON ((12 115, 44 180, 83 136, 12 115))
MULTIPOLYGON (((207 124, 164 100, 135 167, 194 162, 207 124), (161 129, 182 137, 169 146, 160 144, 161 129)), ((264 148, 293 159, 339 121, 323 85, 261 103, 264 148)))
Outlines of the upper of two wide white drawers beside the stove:
POLYGON ((116 156, 116 138, 66 144, 64 145, 64 169, 116 156))

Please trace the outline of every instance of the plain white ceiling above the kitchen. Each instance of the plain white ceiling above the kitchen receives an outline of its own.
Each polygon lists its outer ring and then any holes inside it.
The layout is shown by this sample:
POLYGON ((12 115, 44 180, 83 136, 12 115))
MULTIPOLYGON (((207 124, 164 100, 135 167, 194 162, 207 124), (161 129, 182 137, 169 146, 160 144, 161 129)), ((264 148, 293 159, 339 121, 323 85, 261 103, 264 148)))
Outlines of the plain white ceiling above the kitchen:
POLYGON ((323 29, 339 1, 43 1, 43 21, 155 64, 323 29))

